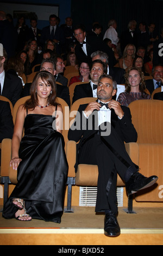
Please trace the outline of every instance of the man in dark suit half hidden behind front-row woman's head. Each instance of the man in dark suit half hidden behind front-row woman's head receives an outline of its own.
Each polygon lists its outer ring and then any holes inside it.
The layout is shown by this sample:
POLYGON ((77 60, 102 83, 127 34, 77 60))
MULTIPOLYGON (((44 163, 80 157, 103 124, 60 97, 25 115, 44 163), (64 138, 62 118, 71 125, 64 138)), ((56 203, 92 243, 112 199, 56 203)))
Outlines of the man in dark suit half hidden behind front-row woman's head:
MULTIPOLYGON (((40 71, 44 70, 55 76, 55 64, 52 59, 43 59, 40 71)), ((31 83, 28 83, 24 86, 22 97, 30 95, 30 85, 31 83)), ((70 106, 70 94, 67 86, 57 84, 57 97, 64 99, 68 106, 70 106)))

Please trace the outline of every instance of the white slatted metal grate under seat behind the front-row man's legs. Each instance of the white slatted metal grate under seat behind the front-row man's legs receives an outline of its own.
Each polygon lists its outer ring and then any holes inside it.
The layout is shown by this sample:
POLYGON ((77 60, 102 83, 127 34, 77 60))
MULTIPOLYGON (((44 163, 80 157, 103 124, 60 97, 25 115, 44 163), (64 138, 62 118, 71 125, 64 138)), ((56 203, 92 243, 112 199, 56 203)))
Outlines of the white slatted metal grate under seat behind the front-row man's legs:
MULTIPOLYGON (((80 187, 79 206, 95 206, 97 187, 80 187)), ((123 187, 117 187, 117 204, 123 206, 123 187)))

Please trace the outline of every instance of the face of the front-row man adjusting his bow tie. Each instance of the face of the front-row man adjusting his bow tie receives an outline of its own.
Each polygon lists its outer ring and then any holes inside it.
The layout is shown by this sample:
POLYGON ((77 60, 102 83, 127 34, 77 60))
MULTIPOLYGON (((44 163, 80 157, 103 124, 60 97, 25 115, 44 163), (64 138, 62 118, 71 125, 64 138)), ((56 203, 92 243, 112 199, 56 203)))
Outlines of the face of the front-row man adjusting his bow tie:
POLYGON ((102 78, 97 86, 97 97, 102 102, 109 102, 112 96, 116 94, 116 90, 113 89, 112 80, 110 78, 102 78))

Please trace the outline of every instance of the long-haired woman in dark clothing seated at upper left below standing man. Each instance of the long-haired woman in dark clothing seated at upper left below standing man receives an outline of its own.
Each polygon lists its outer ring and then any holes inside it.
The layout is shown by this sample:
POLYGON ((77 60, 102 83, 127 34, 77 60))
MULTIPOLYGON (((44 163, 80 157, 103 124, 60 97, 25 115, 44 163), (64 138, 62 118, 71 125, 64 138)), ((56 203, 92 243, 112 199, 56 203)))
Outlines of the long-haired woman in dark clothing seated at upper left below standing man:
POLYGON ((28 69, 28 74, 32 73, 32 68, 36 64, 41 63, 41 56, 38 53, 38 47, 37 47, 37 42, 36 40, 30 39, 26 45, 27 54, 28 54, 28 63, 27 63, 27 69, 28 69))

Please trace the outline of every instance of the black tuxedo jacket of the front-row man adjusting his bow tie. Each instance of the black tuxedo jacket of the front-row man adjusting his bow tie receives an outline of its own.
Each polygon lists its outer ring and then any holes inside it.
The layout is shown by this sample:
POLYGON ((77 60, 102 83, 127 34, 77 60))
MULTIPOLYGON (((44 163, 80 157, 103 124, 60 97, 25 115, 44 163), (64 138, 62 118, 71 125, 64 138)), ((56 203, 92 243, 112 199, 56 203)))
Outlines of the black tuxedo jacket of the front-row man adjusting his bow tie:
MULTIPOLYGON (((74 140, 76 142, 79 141, 77 144, 77 153, 80 151, 80 147, 83 145, 83 143, 86 143, 86 141, 97 132, 97 126, 98 124, 98 111, 94 110, 92 114, 89 116, 89 118, 85 118, 83 115, 83 111, 85 110, 87 104, 83 104, 79 106, 76 118, 74 120, 74 127, 78 127, 77 129, 69 129, 68 130, 68 140, 74 140), (94 116, 94 118, 92 118, 94 116), (77 123, 78 122, 78 123, 77 123), (92 122, 92 129, 88 128, 88 123, 92 122), (96 123, 96 124, 95 124, 96 123), (79 126, 78 126, 79 124, 79 126)), ((136 142, 137 140, 137 132, 131 122, 131 114, 130 109, 126 106, 121 106, 124 116, 122 119, 118 119, 117 115, 115 114, 115 111, 111 110, 111 131, 112 129, 115 130, 116 136, 120 138, 122 142, 136 142)), ((112 133, 112 132, 111 132, 112 133)), ((114 133, 115 134, 115 133, 114 133)), ((103 136, 103 138, 109 142, 111 142, 111 145, 114 147, 115 143, 115 136, 103 136)), ((118 150, 115 148, 115 150, 118 150)), ((93 152, 92 152, 93 153, 93 152)), ((77 168, 77 163, 76 163, 77 168)))

